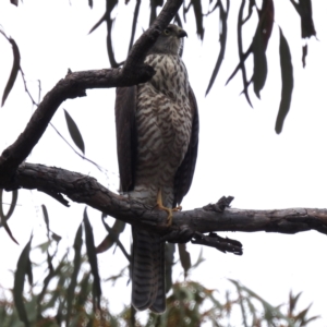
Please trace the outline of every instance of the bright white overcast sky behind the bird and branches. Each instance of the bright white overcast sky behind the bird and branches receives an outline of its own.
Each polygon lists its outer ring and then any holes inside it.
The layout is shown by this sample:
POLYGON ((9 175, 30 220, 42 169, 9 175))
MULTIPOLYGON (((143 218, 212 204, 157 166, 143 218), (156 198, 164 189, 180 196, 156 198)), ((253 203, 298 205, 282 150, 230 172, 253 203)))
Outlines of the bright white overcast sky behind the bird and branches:
MULTIPOLYGON (((20 47, 22 68, 36 99, 37 80, 41 81, 45 96, 64 77, 68 69, 84 71, 108 68, 105 25, 87 35, 102 15, 105 1, 95 1, 93 10, 87 1, 76 0, 72 0, 71 5, 68 0, 25 0, 24 3, 20 2, 19 8, 9 2, 0 2, 0 24, 20 47)), ((134 1, 128 7, 123 2, 120 1, 114 11, 118 61, 126 56, 134 10, 134 1)), ((232 23, 239 8, 239 2, 235 2, 232 4, 237 5, 230 11, 232 23)), ((205 98, 219 50, 218 12, 205 20, 203 43, 195 35, 192 14, 187 16, 184 27, 189 38, 185 39, 183 59, 198 101, 201 134, 196 172, 191 191, 183 201, 184 209, 214 203, 222 195, 233 195, 235 199, 232 206, 242 209, 327 207, 327 3, 313 1, 318 39, 310 40, 307 65, 303 70, 299 16, 290 1, 282 1, 282 4, 281 1, 275 2, 279 7, 276 8, 276 24, 267 50, 268 78, 262 100, 252 96, 254 109, 250 108, 243 96, 239 96, 242 90, 240 74, 225 86, 238 63, 235 25, 229 26, 225 61, 210 94, 205 98), (278 25, 289 41, 295 76, 292 107, 281 135, 276 135, 274 130, 280 99, 278 25)), ((145 11, 138 19, 138 35, 148 24, 147 5, 145 1, 145 11)), ((206 12, 207 5, 204 4, 203 9, 206 12)), ((245 37, 250 41, 253 25, 249 26, 245 37)), ((3 37, 0 37, 0 49, 2 95, 12 65, 12 49, 3 37)), ((113 105, 114 89, 87 90, 87 97, 65 101, 52 120, 56 128, 70 140, 62 108, 66 109, 82 132, 86 157, 106 168, 107 174, 76 156, 50 126, 27 161, 89 174, 110 190, 117 190, 119 179, 113 105)), ((32 112, 31 101, 19 76, 4 107, 0 109, 1 152, 16 140, 32 112)), ((15 268, 31 232, 35 235, 34 245, 45 240, 41 204, 48 208, 51 229, 63 237, 62 251, 71 246, 83 218, 84 205, 72 203, 70 208, 65 208, 37 191, 20 191, 19 204, 9 225, 21 245, 11 242, 4 230, 0 230, 0 282, 5 287, 11 287, 9 269, 15 268)), ((100 223, 100 213, 88 209, 88 214, 98 244, 106 234, 100 223)), ((230 287, 227 278, 238 279, 275 305, 286 302, 290 290, 294 293, 303 291, 299 308, 313 302, 311 315, 320 315, 322 319, 311 326, 327 326, 326 235, 314 231, 295 235, 264 232, 225 232, 220 235, 241 241, 243 256, 204 247, 206 262, 192 271, 193 280, 223 293, 230 287)), ((129 249, 130 233, 125 232, 122 240, 129 249)), ((195 262, 201 247, 189 244, 187 249, 195 262)), ((112 252, 110 250, 99 255, 102 278, 117 274, 128 265, 119 250, 114 255, 112 252)), ((175 269, 175 279, 182 280, 181 272, 181 269, 175 269)), ((129 303, 131 289, 125 286, 126 281, 128 277, 114 288, 105 286, 105 295, 116 312, 122 308, 123 303, 129 303)))

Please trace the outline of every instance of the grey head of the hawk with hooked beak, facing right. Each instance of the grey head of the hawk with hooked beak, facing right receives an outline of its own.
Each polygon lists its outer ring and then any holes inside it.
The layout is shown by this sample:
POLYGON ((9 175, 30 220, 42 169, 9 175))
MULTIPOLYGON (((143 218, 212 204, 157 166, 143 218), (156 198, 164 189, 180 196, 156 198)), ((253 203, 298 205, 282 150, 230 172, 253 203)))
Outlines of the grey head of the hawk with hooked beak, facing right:
POLYGON ((179 55, 184 36, 187 36, 187 34, 183 28, 170 24, 158 36, 149 53, 179 55))

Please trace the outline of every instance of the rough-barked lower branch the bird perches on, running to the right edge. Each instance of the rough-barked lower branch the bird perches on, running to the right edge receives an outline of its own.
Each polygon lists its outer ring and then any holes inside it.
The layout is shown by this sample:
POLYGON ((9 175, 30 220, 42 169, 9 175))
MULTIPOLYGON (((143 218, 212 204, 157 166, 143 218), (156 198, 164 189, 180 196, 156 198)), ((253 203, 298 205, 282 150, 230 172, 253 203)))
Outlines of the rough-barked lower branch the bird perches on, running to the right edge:
MULTIPOLYGON (((0 181, 1 182, 1 181, 0 181)), ((73 202, 84 203, 117 219, 147 228, 161 234, 187 230, 187 234, 213 231, 298 233, 316 230, 327 234, 327 209, 290 208, 281 210, 243 210, 216 205, 173 214, 167 227, 167 214, 117 195, 94 178, 64 169, 25 164, 17 169, 15 181, 9 189, 37 189, 41 192, 63 194, 73 202)), ((168 239, 169 240, 169 239, 168 239)))

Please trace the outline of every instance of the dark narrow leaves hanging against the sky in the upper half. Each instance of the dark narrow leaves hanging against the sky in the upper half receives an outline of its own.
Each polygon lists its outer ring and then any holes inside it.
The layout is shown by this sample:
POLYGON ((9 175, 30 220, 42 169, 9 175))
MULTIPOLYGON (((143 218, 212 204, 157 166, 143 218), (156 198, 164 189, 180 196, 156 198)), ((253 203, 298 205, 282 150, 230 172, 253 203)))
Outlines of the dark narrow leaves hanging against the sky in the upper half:
MULTIPOLYGON (((106 24, 107 26, 107 51, 108 51, 108 58, 110 61, 110 64, 112 68, 119 68, 124 62, 118 62, 114 55, 113 49, 113 43, 114 43, 114 17, 112 17, 112 12, 118 5, 118 0, 106 0, 106 11, 104 15, 100 17, 100 20, 90 28, 89 33, 95 32, 100 25, 106 24)), ((135 31, 136 31, 136 23, 140 16, 140 9, 141 9, 141 0, 137 0, 135 2, 134 8, 134 17, 131 26, 131 37, 130 37, 130 45, 129 45, 129 51, 131 50, 134 39, 135 39, 135 31)), ((218 72, 220 70, 220 66, 223 61, 226 47, 227 47, 227 38, 228 38, 228 20, 229 20, 229 11, 230 11, 230 0, 210 0, 209 1, 209 8, 208 11, 205 13, 203 10, 205 1, 201 0, 191 0, 189 4, 186 4, 186 1, 183 3, 183 21, 186 22, 186 15, 190 14, 190 12, 194 13, 194 19, 196 23, 196 33, 198 37, 203 40, 205 37, 205 20, 216 11, 219 11, 219 24, 217 26, 219 27, 219 43, 220 43, 220 50, 217 56, 216 64, 213 69, 211 77, 208 83, 208 87, 206 90, 206 94, 209 93, 211 89, 215 80, 218 75, 218 72), (190 9, 193 9, 191 11, 190 9)), ((301 37, 303 39, 307 39, 312 36, 316 35, 313 17, 312 17, 312 2, 311 0, 300 0, 299 2, 295 2, 294 0, 290 0, 292 3, 295 13, 301 19, 301 31, 299 32, 299 36, 301 34, 301 37)), ((19 5, 19 1, 11 1, 12 4, 19 5)), ((227 84, 237 75, 237 73, 240 71, 242 75, 242 83, 243 83, 243 89, 242 94, 244 94, 247 102, 250 106, 252 106, 251 96, 249 93, 249 86, 253 84, 253 90, 257 98, 261 98, 261 90, 264 88, 268 69, 267 69, 267 59, 266 59, 266 50, 269 44, 269 39, 271 36, 271 32, 275 25, 275 5, 278 3, 278 1, 274 0, 263 0, 263 1, 256 1, 256 0, 242 0, 239 4, 239 14, 238 14, 238 21, 237 21, 237 31, 238 31, 238 49, 239 49, 239 63, 237 64, 234 71, 230 75, 230 77, 227 81, 227 84), (247 8, 247 12, 245 12, 245 9, 247 8), (254 14, 256 12, 256 16, 254 14), (246 24, 249 22, 255 22, 256 27, 253 31, 253 40, 251 41, 250 46, 246 50, 244 50, 244 39, 243 39, 243 31, 246 27, 246 24), (249 58, 253 55, 253 72, 249 72, 250 69, 247 68, 247 61, 249 58), (251 75, 251 77, 247 77, 251 75)), ((126 5, 131 5, 131 1, 125 1, 126 5)), ((93 1, 88 1, 88 5, 92 9, 93 8, 93 1)), ((150 11, 149 11, 149 25, 153 24, 157 17, 157 9, 164 5, 162 0, 153 0, 150 1, 150 11)), ((278 3, 277 5, 280 5, 278 3)), ((284 5, 284 4, 282 4, 284 5)), ((174 22, 182 26, 182 20, 177 13, 174 22)), ((292 69, 292 59, 291 53, 289 50, 287 38, 282 34, 282 28, 280 29, 280 70, 281 70, 281 82, 282 82, 282 88, 281 88, 281 97, 280 97, 280 105, 279 105, 279 111, 278 117, 276 120, 275 130, 276 133, 280 133, 282 131, 283 121, 289 112, 290 106, 291 106, 291 99, 292 99, 292 92, 293 92, 293 69, 292 69)), ((7 97, 9 96, 17 73, 21 72, 22 77, 24 80, 24 74, 21 68, 21 55, 19 50, 19 46, 12 39, 9 37, 4 31, 0 29, 0 33, 8 39, 8 41, 12 46, 13 50, 13 65, 12 71, 9 76, 7 86, 3 90, 2 96, 2 106, 5 102, 7 97)), ((303 45, 302 48, 302 62, 303 66, 305 66, 305 59, 307 56, 307 44, 306 41, 303 45)), ((25 80, 24 80, 25 81, 25 80)), ((28 90, 27 90, 28 93, 28 90)), ((32 99, 33 100, 33 99, 32 99)), ((36 104, 33 100, 34 104, 36 104)), ((75 143, 77 143, 78 148, 84 150, 84 144, 83 140, 81 140, 81 136, 78 135, 78 131, 76 131, 76 126, 74 126, 74 122, 70 120, 70 117, 66 117, 69 120, 69 128, 72 133, 72 137, 75 143), (72 129, 74 132, 72 132, 72 129)))

